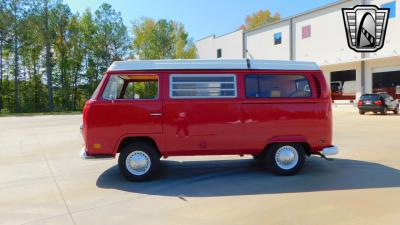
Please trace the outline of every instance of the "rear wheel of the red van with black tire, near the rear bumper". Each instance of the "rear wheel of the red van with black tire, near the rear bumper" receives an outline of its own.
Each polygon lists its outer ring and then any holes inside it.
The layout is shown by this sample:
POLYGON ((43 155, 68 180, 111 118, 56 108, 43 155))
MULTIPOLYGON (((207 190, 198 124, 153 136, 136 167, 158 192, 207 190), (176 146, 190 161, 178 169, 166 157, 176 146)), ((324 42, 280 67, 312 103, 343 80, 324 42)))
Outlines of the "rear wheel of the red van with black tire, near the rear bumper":
MULTIPOLYGON (((295 154, 296 154, 295 153, 295 154)), ((282 153, 281 153, 282 154, 282 153)), ((290 176, 298 173, 304 165, 306 159, 306 155, 304 153, 304 148, 301 144, 298 143, 280 143, 280 144, 272 144, 267 148, 267 166, 271 169, 271 171, 277 175, 281 176, 290 176), (297 153, 297 162, 288 168, 283 168, 277 161, 277 153, 278 151, 282 151, 283 149, 289 149, 289 151, 296 151, 297 153)))

